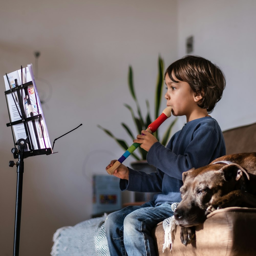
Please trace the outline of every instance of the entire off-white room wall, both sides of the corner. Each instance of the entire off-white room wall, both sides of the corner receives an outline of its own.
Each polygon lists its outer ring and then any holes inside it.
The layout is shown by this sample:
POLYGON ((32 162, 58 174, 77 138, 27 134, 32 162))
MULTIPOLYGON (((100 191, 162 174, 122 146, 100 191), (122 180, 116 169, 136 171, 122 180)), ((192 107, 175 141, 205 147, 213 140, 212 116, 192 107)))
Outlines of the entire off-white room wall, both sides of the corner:
MULTIPOLYGON (((52 86, 50 100, 42 105, 51 141, 83 123, 56 141, 54 151, 59 153, 25 159, 21 256, 49 255, 57 228, 90 217, 92 174, 104 174, 110 159, 123 153, 97 124, 129 142, 120 126, 122 121, 132 126, 123 106, 133 104, 128 65, 133 66, 136 93, 145 110, 145 99, 153 106, 158 54, 166 67, 186 55, 185 39, 193 35, 193 54, 217 63, 227 78, 212 116, 223 130, 255 122, 255 10, 254 0, 1 3, 2 75, 34 65, 33 52, 39 50, 38 77, 47 81, 37 82, 41 96, 49 94, 49 83, 52 86)), ((3 80, 0 97, 0 254, 9 256, 16 169, 8 167, 13 143, 5 125, 3 80)), ((184 122, 180 118, 176 129, 184 122)))

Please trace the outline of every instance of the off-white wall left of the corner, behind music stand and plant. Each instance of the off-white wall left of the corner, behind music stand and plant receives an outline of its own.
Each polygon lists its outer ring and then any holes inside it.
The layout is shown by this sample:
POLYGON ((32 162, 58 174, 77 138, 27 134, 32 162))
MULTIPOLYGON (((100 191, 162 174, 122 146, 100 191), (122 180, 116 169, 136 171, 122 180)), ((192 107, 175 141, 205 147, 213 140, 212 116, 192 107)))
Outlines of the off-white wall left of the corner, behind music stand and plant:
MULTIPOLYGON (((120 123, 133 127, 123 103, 133 105, 127 87, 134 70, 137 96, 153 109, 160 54, 165 66, 177 59, 176 1, 2 1, 2 76, 34 65, 39 50, 37 87, 50 139, 50 156, 25 159, 20 255, 49 255, 57 228, 90 218, 93 174, 105 174, 123 150, 97 124, 132 143, 120 123), (51 89, 51 90, 50 90, 51 89), (45 96, 46 95, 46 96, 45 96)), ((2 78, 0 94, 0 254, 13 253, 16 168, 8 167, 13 140, 2 78)), ((163 107, 165 102, 163 101, 163 107)), ((160 127, 161 128, 161 127, 160 127)), ((134 131, 135 132, 135 131, 134 131)), ((127 159, 129 164, 132 159, 127 159)), ((126 195, 125 200, 129 200, 126 195)))

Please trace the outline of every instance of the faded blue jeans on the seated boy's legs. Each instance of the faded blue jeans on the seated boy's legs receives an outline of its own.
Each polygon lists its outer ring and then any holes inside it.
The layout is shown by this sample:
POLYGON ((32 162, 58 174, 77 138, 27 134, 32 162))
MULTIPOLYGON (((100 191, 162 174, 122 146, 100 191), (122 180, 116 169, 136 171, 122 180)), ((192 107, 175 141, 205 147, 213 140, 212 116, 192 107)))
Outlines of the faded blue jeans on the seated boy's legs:
POLYGON ((112 212, 105 220, 110 255, 157 255, 151 230, 170 216, 173 216, 171 204, 155 206, 154 200, 112 212))

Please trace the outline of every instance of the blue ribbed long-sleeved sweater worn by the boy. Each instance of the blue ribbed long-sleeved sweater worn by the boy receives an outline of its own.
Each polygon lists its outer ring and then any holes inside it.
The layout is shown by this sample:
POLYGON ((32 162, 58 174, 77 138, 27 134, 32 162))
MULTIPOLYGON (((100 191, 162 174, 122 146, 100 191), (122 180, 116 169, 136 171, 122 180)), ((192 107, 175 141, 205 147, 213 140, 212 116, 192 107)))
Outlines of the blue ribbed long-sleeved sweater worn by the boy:
POLYGON ((120 189, 154 192, 155 204, 180 202, 182 173, 209 164, 226 154, 225 141, 217 121, 210 116, 186 123, 165 147, 156 142, 147 153, 147 162, 157 168, 146 174, 129 168, 129 181, 120 180, 120 189))

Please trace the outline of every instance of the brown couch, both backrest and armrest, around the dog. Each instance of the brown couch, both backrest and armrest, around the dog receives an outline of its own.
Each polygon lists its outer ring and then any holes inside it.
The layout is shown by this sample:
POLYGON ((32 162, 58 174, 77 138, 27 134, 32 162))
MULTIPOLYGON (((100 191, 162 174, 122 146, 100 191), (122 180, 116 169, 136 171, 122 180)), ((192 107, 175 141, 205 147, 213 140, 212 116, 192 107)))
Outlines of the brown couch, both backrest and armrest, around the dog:
MULTIPOLYGON (((226 153, 256 152, 256 123, 223 132, 226 153)), ((255 184, 256 186, 256 184, 255 184)), ((177 226, 172 251, 165 249, 162 222, 153 230, 159 256, 256 255, 256 209, 229 207, 212 212, 196 227, 196 241, 184 246, 177 226)))

